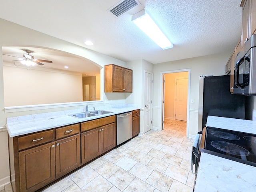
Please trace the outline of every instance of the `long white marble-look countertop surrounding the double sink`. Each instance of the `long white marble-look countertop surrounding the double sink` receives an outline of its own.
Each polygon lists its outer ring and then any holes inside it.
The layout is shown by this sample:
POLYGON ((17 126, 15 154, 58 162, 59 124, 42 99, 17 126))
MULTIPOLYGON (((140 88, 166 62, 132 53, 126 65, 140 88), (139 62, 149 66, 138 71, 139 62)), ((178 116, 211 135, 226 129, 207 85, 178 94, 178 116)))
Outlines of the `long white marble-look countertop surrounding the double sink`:
MULTIPOLYGON (((112 106, 95 107, 95 110, 106 110, 112 113, 92 116, 88 118, 76 118, 74 116, 69 116, 69 114, 84 112, 84 109, 11 117, 7 118, 6 128, 9 136, 15 137, 19 135, 25 135, 28 133, 34 133, 37 131, 52 129, 55 127, 71 125, 74 123, 94 120, 102 117, 121 114, 124 112, 130 112, 138 109, 139 107, 136 104, 117 104, 112 106)), ((89 112, 92 110, 92 108, 88 109, 89 112)))

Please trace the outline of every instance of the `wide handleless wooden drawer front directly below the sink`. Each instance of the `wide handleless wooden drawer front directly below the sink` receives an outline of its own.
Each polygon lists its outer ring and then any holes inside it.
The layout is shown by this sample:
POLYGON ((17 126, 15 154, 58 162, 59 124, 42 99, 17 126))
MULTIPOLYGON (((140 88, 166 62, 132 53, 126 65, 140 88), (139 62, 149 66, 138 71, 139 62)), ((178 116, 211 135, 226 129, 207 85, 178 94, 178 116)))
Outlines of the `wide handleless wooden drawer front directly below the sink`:
POLYGON ((93 129, 96 127, 100 127, 102 125, 107 125, 110 123, 116 122, 116 116, 109 116, 106 118, 101 118, 97 120, 92 120, 92 121, 87 121, 84 123, 81 123, 81 132, 82 131, 87 131, 89 129, 93 129))

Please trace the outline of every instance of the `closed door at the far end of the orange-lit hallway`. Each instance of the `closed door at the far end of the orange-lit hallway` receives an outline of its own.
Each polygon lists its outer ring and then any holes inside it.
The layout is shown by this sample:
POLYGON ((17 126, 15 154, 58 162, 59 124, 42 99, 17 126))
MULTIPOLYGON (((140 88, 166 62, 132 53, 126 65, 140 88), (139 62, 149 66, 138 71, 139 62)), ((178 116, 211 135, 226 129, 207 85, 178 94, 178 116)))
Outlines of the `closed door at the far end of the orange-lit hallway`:
POLYGON ((175 119, 187 120, 188 79, 176 79, 175 119))

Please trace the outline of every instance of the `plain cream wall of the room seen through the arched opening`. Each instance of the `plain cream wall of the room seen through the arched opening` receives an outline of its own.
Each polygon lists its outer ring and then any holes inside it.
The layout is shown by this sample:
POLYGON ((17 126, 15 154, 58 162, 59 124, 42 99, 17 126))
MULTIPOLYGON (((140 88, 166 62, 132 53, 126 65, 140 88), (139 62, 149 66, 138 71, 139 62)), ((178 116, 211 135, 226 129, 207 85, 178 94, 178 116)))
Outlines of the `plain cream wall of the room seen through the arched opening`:
POLYGON ((4 65, 4 106, 82 101, 82 74, 4 65))

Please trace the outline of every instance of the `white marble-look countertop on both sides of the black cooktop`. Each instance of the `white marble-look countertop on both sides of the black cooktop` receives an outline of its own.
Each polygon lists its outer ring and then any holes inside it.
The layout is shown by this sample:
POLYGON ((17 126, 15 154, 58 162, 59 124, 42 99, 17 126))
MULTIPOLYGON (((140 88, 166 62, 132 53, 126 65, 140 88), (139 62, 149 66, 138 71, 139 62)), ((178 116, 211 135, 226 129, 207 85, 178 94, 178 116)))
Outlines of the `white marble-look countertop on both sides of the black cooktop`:
MULTIPOLYGON (((206 126, 256 134, 256 121, 208 116, 206 126)), ((256 167, 201 153, 195 192, 256 191, 256 167)))

